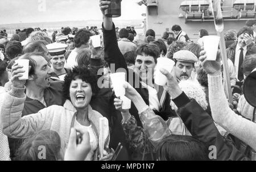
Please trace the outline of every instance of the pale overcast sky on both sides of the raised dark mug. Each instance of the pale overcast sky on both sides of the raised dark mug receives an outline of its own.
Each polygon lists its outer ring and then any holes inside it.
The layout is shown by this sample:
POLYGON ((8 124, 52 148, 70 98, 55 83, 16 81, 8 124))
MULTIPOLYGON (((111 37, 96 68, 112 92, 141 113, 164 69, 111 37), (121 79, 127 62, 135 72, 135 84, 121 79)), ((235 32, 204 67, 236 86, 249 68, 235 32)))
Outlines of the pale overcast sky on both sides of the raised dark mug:
MULTIPOLYGON (((101 19, 99 0, 0 0, 0 24, 101 19), (44 11, 44 2, 46 8, 44 11)), ((139 0, 122 0, 120 19, 143 19, 139 0)))

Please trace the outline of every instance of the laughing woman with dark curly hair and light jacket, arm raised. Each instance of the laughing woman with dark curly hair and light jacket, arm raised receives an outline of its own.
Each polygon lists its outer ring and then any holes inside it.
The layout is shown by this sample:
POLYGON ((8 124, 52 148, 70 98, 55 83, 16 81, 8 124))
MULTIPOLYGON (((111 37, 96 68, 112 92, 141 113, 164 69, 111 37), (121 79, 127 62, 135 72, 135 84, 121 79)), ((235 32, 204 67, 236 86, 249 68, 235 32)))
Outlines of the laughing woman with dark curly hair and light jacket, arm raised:
MULTIPOLYGON (((67 145, 71 128, 84 128, 89 132, 91 146, 85 160, 98 160, 99 121, 103 116, 90 106, 91 99, 98 93, 97 77, 93 70, 76 67, 65 77, 63 94, 66 101, 64 106, 49 106, 36 114, 23 118, 21 116, 26 94, 24 94, 24 81, 18 79, 23 71, 17 64, 13 66, 12 71, 16 73, 11 78, 13 86, 11 91, 4 95, 6 101, 3 103, 1 112, 3 133, 9 137, 23 139, 38 131, 51 129, 56 131, 67 145)), ((109 152, 109 127, 106 126, 104 129, 106 133, 103 137, 105 157, 101 160, 110 160, 113 150, 109 152)))

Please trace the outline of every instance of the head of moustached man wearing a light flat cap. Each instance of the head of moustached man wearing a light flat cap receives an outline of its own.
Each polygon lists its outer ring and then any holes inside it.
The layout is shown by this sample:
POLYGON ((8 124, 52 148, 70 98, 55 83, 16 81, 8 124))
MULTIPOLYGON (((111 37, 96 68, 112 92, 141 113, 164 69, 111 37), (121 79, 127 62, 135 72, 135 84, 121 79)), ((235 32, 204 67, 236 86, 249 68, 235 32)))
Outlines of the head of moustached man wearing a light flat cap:
POLYGON ((178 81, 191 78, 191 73, 198 58, 187 50, 181 50, 174 54, 175 75, 178 81))

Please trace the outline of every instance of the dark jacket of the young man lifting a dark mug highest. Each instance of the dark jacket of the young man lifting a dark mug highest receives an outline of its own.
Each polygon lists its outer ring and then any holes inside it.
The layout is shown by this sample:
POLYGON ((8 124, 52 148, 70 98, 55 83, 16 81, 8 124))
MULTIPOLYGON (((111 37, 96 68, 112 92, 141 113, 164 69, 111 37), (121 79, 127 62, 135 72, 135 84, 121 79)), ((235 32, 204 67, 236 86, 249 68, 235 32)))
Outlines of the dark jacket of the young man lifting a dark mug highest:
MULTIPOLYGON (((138 93, 142 96, 143 100, 148 105, 148 90, 147 88, 143 87, 141 82, 138 83, 138 81, 141 81, 138 74, 136 74, 133 70, 127 68, 127 64, 125 61, 125 58, 123 57, 123 54, 118 48, 117 43, 117 37, 115 34, 115 26, 113 23, 113 28, 111 31, 105 30, 103 24, 103 37, 104 37, 104 46, 105 46, 105 61, 108 62, 110 69, 112 70, 112 73, 115 73, 118 69, 123 69, 124 72, 126 72, 127 81, 138 91, 138 93), (114 64, 114 71, 113 71, 113 64, 114 64), (135 82, 137 81, 137 82, 135 82)), ((176 113, 174 110, 172 110, 170 106, 170 95, 167 94, 166 91, 164 91, 162 86, 159 86, 158 91, 158 98, 160 100, 161 109, 160 111, 155 111, 156 115, 161 116, 164 120, 167 120, 168 118, 172 116, 176 116, 176 113)), ((135 119, 138 122, 138 126, 142 127, 141 119, 139 119, 137 108, 132 103, 130 113, 134 115, 135 119)))

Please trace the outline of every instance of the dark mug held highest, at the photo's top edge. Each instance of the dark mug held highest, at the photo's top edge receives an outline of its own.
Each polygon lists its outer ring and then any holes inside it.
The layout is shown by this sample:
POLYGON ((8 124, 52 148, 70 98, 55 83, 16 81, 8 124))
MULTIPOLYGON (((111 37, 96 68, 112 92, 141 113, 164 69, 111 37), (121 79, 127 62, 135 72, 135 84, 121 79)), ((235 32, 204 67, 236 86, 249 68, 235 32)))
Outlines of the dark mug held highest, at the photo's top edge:
POLYGON ((105 10, 105 16, 109 18, 117 18, 121 16, 121 1, 122 0, 108 0, 110 1, 109 8, 105 10))

